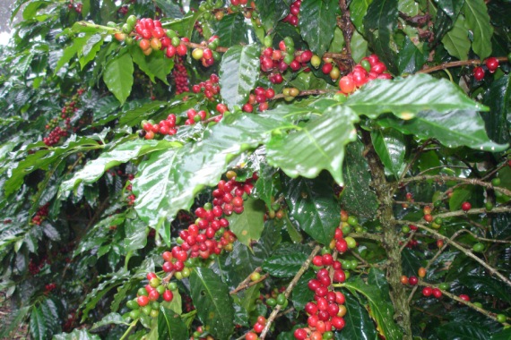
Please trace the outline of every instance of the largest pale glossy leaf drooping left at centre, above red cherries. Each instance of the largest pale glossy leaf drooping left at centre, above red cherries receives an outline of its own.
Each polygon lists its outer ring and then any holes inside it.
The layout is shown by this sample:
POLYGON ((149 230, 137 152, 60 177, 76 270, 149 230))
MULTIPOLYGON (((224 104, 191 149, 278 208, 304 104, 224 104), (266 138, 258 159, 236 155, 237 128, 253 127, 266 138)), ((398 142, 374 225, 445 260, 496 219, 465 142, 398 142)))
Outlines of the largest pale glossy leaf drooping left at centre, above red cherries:
POLYGON ((156 226, 190 208, 197 192, 218 183, 231 157, 268 140, 273 129, 285 124, 278 115, 229 115, 203 140, 152 153, 134 179, 137 213, 156 226))

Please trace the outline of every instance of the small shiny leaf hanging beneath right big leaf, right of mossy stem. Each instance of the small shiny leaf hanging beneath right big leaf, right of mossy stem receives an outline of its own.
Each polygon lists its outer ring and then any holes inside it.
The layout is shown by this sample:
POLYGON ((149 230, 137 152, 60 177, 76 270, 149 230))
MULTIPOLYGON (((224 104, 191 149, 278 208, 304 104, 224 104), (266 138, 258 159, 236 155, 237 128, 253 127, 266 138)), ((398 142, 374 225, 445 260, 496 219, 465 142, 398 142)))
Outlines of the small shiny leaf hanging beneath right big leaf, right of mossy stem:
POLYGON ((394 129, 373 130, 371 131, 371 140, 378 157, 385 166, 385 172, 394 174, 395 178, 399 178, 403 171, 404 155, 406 154, 406 142, 403 133, 394 129))

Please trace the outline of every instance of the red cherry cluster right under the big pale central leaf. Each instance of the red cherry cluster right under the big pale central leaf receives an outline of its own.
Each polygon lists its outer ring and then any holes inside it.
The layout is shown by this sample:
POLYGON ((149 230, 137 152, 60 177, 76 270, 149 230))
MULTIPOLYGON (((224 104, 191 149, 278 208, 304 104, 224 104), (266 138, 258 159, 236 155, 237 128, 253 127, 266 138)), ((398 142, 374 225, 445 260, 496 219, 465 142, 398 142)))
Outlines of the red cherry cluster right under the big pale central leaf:
POLYGON ((212 205, 221 208, 226 216, 232 215, 232 212, 241 214, 243 208, 243 198, 250 195, 254 189, 254 182, 257 181, 257 174, 253 174, 245 182, 236 181, 236 172, 230 170, 226 173, 228 181, 221 180, 217 188, 212 191, 212 205))

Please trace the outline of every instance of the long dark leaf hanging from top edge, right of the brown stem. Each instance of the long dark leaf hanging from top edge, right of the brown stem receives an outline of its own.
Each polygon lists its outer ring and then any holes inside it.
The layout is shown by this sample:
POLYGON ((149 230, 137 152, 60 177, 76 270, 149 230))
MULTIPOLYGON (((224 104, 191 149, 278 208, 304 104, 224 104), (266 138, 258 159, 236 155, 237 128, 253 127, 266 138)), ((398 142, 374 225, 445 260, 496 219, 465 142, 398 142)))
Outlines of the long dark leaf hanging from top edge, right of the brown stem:
POLYGON ((397 0, 374 1, 369 4, 363 21, 369 45, 393 73, 397 73, 397 58, 392 49, 391 36, 397 27, 397 4, 397 0))

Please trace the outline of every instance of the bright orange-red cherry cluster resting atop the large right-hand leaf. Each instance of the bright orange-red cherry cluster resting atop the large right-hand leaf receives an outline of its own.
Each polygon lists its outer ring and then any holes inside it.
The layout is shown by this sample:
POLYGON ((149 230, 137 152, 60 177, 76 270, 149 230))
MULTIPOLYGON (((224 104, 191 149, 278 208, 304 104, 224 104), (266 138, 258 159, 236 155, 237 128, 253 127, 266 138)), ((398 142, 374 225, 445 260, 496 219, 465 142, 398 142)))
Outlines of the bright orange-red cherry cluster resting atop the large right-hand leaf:
POLYGON ((369 55, 363 58, 360 64, 355 65, 349 74, 339 80, 339 89, 343 94, 348 95, 368 81, 392 79, 392 75, 385 71, 386 66, 379 60, 378 56, 369 55))

